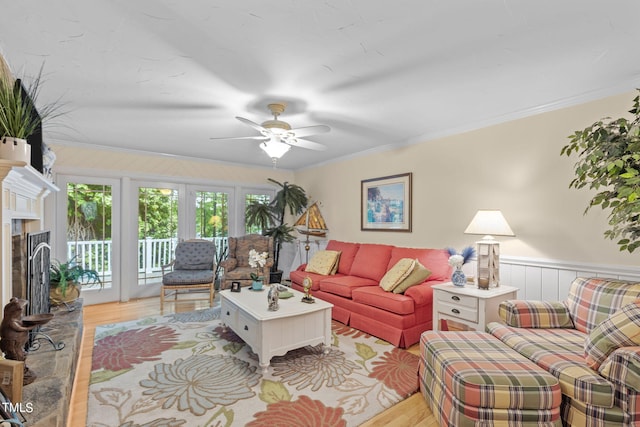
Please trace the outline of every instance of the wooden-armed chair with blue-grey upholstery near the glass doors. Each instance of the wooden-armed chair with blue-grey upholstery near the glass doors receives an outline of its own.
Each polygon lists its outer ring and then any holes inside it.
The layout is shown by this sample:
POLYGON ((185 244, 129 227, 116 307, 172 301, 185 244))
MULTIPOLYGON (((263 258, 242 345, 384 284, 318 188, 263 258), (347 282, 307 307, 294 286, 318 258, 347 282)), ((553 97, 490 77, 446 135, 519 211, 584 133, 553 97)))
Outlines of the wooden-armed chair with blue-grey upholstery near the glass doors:
POLYGON ((160 311, 164 310, 164 301, 173 295, 178 301, 178 293, 207 291, 206 298, 189 300, 208 300, 213 306, 215 296, 215 257, 216 245, 208 240, 186 240, 178 243, 171 263, 162 266, 162 286, 160 289, 160 311))

